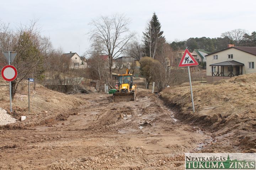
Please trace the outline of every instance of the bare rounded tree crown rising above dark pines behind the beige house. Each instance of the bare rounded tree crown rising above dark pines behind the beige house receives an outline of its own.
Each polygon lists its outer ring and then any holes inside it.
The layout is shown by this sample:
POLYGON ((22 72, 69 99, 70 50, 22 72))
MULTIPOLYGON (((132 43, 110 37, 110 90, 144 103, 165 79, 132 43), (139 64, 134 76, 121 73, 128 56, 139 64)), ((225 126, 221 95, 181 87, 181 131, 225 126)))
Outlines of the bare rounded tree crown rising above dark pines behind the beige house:
POLYGON ((234 29, 225 33, 222 33, 221 36, 223 38, 228 37, 230 44, 235 44, 235 46, 239 46, 243 40, 246 39, 246 34, 248 34, 248 31, 245 29, 234 29))

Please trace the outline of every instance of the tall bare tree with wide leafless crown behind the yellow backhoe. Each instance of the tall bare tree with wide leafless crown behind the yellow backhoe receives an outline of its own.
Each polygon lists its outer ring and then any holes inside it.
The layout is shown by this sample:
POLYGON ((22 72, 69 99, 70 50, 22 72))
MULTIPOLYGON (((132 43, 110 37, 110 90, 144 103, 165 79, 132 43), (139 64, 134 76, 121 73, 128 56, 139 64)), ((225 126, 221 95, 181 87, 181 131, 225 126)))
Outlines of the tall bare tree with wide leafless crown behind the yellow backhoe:
POLYGON ((92 43, 98 42, 99 51, 108 56, 109 78, 108 85, 112 88, 113 60, 124 51, 126 43, 134 36, 128 29, 130 21, 124 15, 101 16, 92 20, 89 32, 92 43))

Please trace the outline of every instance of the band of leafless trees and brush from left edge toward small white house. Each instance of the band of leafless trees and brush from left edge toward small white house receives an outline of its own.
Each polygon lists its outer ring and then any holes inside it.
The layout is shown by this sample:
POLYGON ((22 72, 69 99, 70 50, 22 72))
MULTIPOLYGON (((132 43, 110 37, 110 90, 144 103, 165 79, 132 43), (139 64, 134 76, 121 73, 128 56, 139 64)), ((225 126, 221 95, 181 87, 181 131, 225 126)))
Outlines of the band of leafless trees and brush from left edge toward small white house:
MULTIPOLYGON (((17 55, 11 65, 17 69, 17 78, 11 81, 12 99, 18 87, 24 86, 27 78, 34 78, 36 83, 47 85, 74 85, 71 78, 75 69, 70 58, 62 56, 61 49, 54 49, 49 37, 42 36, 37 21, 10 28, 9 24, 0 21, 0 64, 7 65, 2 51, 16 51, 17 55)), ((0 68, 1 69, 1 68, 0 68)), ((78 75, 78 73, 76 73, 78 75)), ((7 86, 7 82, 1 83, 7 86)))

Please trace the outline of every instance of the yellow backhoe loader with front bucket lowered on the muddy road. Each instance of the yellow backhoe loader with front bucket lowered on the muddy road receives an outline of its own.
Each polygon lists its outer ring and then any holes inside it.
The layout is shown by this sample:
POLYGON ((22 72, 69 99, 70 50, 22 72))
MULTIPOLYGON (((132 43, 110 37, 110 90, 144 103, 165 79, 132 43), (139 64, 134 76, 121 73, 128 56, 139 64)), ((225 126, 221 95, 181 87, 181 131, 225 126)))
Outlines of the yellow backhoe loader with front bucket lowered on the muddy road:
POLYGON ((113 92, 113 102, 134 101, 136 98, 136 85, 133 85, 132 74, 126 69, 126 74, 118 74, 117 89, 113 92))

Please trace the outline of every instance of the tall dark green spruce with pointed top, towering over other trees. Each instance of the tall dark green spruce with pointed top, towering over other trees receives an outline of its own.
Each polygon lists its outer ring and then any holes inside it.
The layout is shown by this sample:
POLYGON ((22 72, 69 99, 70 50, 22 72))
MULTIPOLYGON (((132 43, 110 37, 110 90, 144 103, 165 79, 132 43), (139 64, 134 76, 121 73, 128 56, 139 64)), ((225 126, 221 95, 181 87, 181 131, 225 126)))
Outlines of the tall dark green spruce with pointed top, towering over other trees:
POLYGON ((143 32, 145 56, 152 58, 156 57, 159 45, 165 42, 163 33, 164 32, 161 31, 161 23, 154 12, 148 26, 146 27, 145 33, 143 32))

